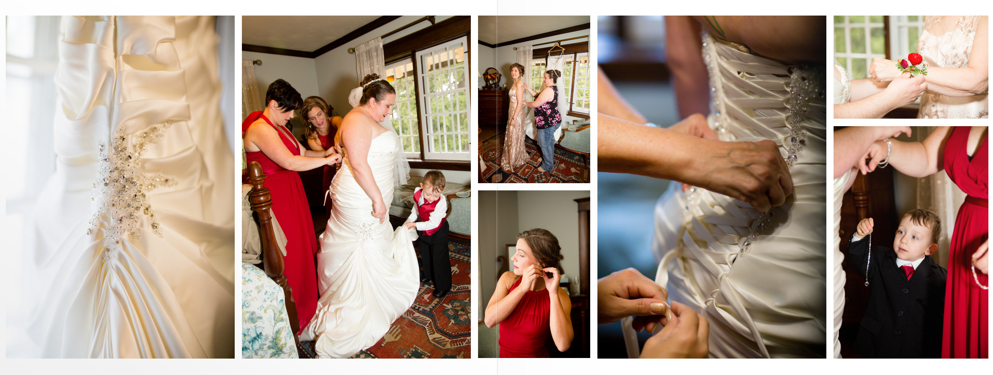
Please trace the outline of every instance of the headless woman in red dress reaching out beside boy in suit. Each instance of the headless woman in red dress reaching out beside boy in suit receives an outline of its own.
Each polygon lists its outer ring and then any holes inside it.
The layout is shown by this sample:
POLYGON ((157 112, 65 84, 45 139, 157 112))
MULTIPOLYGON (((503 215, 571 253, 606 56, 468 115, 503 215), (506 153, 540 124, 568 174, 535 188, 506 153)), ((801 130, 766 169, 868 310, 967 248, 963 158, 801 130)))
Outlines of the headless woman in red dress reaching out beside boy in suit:
MULTIPOLYGON (((943 169, 968 194, 958 208, 948 246, 941 357, 989 357, 988 258, 989 151, 985 126, 939 126, 923 142, 890 140, 889 163, 901 173, 923 178, 943 169), (973 272, 973 265, 975 271, 973 272)), ((867 157, 869 171, 888 157, 886 141, 876 141, 867 157)))

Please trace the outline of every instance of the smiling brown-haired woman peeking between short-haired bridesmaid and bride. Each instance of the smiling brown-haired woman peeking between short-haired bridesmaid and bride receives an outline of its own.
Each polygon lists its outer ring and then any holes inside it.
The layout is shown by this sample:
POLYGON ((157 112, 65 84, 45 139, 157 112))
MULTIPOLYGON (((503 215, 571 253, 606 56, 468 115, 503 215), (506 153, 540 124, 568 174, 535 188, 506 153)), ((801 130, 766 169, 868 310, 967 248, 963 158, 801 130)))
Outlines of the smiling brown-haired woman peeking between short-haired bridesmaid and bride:
MULTIPOLYGON (((326 151, 335 147, 335 134, 338 133, 338 127, 342 125, 342 117, 328 117, 331 113, 330 109, 331 106, 328 105, 328 102, 320 96, 310 96, 304 99, 304 107, 300 113, 304 117, 304 138, 311 150, 326 151)), ((325 194, 327 194, 331 187, 331 181, 335 179, 337 173, 338 166, 324 166, 321 191, 324 191, 325 194)), ((326 213, 330 217, 332 199, 328 199, 327 195, 324 205, 326 213)))

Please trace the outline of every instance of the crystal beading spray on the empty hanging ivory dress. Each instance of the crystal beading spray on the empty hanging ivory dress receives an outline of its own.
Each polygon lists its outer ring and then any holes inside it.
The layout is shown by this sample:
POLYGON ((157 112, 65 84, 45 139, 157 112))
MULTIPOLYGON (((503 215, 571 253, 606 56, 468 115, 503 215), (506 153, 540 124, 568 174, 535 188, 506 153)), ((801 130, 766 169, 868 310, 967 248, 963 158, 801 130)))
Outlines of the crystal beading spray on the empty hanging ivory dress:
POLYGON ((149 144, 161 141, 171 125, 171 121, 154 125, 131 137, 130 141, 123 127, 119 127, 109 148, 100 144, 99 167, 91 197, 97 205, 89 219, 90 227, 86 229, 86 234, 100 225, 101 218, 106 218, 108 224, 101 251, 103 262, 110 259, 115 248, 120 247, 121 238, 132 241, 141 239, 139 214, 148 215, 155 234, 162 237, 159 220, 148 203, 146 193, 156 187, 175 187, 177 182, 175 178, 162 174, 145 174, 141 154, 149 144))

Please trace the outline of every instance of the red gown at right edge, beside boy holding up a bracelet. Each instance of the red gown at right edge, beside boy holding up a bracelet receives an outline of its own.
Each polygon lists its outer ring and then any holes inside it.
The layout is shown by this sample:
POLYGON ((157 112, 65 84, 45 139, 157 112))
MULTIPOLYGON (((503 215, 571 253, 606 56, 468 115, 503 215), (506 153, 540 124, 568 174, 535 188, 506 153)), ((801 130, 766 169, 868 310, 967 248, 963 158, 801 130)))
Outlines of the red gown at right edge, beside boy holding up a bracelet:
MULTIPOLYGON (((942 358, 989 357, 989 294, 972 277, 972 253, 989 238, 987 216, 989 154, 983 139, 972 160, 966 155, 969 126, 954 126, 944 145, 944 171, 968 196, 958 208, 948 249, 948 278, 944 292, 942 358)), ((989 278, 976 271, 979 283, 989 278)))

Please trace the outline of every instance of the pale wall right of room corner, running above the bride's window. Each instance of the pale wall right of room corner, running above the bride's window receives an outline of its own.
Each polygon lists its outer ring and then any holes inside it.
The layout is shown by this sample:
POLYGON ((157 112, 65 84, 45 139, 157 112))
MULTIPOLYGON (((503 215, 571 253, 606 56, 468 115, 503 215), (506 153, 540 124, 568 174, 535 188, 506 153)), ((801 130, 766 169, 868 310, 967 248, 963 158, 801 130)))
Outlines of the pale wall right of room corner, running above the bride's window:
MULTIPOLYGON (((320 88, 320 94, 315 95, 320 95, 327 100, 331 106, 335 107, 338 114, 344 116, 346 113, 349 113, 349 111, 352 110, 352 105, 349 105, 349 92, 351 92, 353 88, 358 87, 358 83, 361 81, 361 78, 357 76, 357 72, 355 70, 355 55, 349 54, 349 49, 355 48, 355 46, 396 30, 401 26, 417 21, 417 19, 421 17, 424 16, 400 17, 314 59, 314 64, 317 68, 316 81, 318 87, 320 88)), ((435 16, 435 22, 441 22, 451 17, 452 16, 435 16)), ((395 41, 410 33, 429 26, 431 26, 431 24, 427 21, 422 22, 417 26, 407 28, 399 33, 389 36, 384 39, 382 43, 386 44, 391 41, 395 41)))

